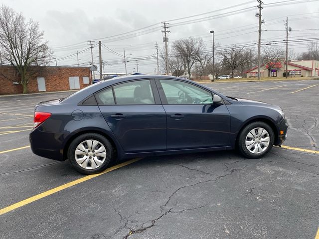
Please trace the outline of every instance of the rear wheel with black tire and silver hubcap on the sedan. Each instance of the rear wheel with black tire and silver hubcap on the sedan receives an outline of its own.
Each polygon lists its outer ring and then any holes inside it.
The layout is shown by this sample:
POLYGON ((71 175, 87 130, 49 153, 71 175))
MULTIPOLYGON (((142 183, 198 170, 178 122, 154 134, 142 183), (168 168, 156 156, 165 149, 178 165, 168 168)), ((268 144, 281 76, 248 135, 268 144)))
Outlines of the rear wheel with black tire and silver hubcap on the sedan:
POLYGON ((82 174, 103 171, 113 157, 110 141, 98 133, 84 133, 71 142, 68 160, 72 167, 82 174))

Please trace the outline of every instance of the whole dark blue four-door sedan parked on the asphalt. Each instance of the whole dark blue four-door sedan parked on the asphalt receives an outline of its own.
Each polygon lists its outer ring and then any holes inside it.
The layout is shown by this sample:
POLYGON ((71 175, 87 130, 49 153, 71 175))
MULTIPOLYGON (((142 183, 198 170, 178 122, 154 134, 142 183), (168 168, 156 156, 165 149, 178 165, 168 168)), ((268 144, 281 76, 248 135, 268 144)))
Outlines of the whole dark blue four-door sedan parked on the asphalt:
POLYGON ((33 153, 84 174, 129 157, 238 148, 260 158, 287 135, 282 109, 226 97, 186 79, 138 75, 101 81, 35 105, 33 153))

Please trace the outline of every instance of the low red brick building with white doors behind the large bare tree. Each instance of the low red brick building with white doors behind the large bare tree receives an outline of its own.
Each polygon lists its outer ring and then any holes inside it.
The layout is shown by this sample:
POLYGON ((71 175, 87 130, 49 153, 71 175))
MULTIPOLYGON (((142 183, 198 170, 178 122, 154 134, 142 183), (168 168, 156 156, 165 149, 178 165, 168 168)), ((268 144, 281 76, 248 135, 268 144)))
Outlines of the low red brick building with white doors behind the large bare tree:
MULTIPOLYGON (((43 68, 29 81, 28 93, 82 89, 91 84, 89 67, 43 68)), ((19 76, 13 66, 0 66, 0 95, 21 94, 19 76)))

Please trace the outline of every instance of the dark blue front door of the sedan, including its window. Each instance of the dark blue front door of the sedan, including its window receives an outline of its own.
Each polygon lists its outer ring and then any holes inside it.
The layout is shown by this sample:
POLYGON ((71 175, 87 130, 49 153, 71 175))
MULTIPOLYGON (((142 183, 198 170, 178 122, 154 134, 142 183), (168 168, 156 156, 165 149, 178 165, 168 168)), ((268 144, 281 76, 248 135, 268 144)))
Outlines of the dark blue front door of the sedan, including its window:
POLYGON ((167 149, 228 146, 230 114, 212 93, 178 80, 157 79, 166 112, 167 149))

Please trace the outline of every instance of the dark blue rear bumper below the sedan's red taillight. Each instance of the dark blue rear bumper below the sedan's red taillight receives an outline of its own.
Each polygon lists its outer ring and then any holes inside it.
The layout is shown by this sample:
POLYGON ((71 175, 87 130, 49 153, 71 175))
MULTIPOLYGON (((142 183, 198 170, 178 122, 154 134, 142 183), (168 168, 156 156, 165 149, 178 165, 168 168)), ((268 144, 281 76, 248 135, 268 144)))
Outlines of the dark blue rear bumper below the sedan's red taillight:
POLYGON ((64 161, 64 144, 69 135, 43 132, 36 128, 29 134, 31 150, 38 156, 64 161))

